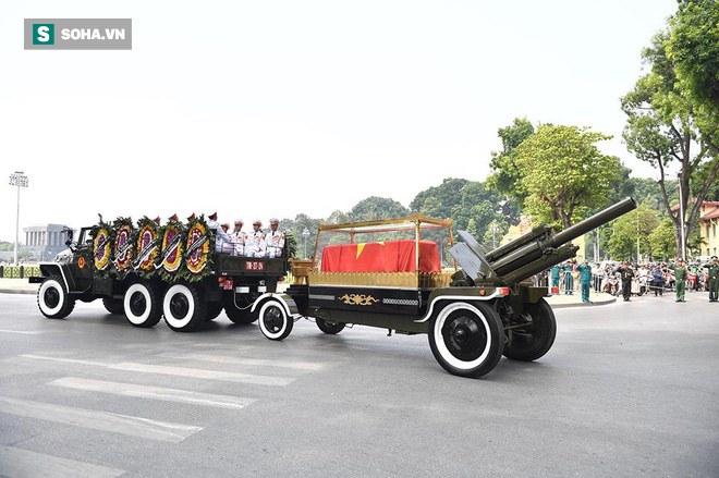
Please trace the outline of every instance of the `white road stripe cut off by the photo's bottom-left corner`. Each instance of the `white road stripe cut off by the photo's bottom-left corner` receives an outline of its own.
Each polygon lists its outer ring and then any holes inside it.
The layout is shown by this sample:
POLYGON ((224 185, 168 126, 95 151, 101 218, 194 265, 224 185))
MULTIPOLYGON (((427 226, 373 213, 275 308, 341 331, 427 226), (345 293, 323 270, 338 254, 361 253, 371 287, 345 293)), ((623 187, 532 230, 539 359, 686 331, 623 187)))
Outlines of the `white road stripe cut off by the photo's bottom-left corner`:
POLYGON ((121 469, 0 445, 0 476, 8 478, 112 478, 122 474, 121 469))

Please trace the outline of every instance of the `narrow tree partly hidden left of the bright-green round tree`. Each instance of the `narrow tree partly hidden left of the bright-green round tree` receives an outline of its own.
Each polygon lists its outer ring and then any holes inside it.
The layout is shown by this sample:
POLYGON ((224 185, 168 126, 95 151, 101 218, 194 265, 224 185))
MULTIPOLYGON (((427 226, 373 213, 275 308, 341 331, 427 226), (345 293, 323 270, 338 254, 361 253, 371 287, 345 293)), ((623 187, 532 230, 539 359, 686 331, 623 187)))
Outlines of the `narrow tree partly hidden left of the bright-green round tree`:
POLYGON ((487 186, 507 198, 513 198, 523 207, 527 192, 522 187, 522 171, 516 164, 516 147, 534 134, 534 126, 526 118, 515 118, 514 122, 497 132, 502 140, 502 150, 492 151, 489 166, 492 173, 487 177, 487 186))

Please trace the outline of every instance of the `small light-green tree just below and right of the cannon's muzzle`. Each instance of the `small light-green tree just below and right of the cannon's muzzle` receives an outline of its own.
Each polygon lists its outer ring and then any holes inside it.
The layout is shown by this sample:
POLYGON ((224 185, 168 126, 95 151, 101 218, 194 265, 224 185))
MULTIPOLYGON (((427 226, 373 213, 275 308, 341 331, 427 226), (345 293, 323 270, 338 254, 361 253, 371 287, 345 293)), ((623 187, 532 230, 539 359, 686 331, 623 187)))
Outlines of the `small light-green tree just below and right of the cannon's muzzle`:
POLYGON ((653 248, 649 234, 659 225, 656 211, 639 206, 617 219, 607 248, 612 257, 621 259, 636 259, 637 238, 639 242, 639 254, 651 256, 653 248))

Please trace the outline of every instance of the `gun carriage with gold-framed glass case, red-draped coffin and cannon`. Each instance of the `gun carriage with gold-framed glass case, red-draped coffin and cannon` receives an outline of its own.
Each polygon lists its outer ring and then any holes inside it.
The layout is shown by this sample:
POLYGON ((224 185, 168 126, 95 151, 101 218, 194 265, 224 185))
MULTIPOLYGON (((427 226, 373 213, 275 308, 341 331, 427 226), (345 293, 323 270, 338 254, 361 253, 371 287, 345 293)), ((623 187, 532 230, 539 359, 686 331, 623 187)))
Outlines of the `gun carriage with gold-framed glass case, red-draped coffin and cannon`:
POLYGON ((437 361, 462 377, 488 373, 502 355, 536 360, 555 343, 557 321, 545 297, 558 291, 531 278, 574 257, 572 240, 634 208, 627 197, 558 234, 540 224, 486 254, 464 231, 453 244, 451 221, 419 213, 320 224, 310 270, 303 283, 264 298, 260 329, 282 340, 307 317, 328 334, 348 324, 426 333, 437 361), (454 259, 450 271, 440 268, 442 231, 454 259), (358 242, 363 237, 373 242, 358 242))

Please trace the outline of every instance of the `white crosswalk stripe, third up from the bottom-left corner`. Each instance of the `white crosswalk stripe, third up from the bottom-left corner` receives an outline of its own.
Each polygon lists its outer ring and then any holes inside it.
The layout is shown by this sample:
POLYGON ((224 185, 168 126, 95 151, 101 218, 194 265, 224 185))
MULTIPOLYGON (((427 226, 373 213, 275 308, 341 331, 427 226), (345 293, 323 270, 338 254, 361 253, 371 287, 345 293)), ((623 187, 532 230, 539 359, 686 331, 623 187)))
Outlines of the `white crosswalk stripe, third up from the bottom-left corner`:
POLYGON ((216 395, 214 393, 190 392, 186 390, 164 389, 159 387, 138 385, 136 383, 106 382, 75 377, 49 382, 50 385, 68 389, 86 390, 90 392, 113 393, 115 395, 135 396, 139 399, 161 400, 164 402, 190 403, 194 405, 215 406, 219 408, 240 409, 256 402, 255 399, 241 396, 216 395))

